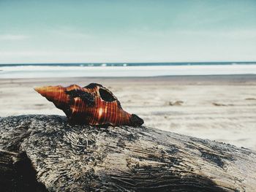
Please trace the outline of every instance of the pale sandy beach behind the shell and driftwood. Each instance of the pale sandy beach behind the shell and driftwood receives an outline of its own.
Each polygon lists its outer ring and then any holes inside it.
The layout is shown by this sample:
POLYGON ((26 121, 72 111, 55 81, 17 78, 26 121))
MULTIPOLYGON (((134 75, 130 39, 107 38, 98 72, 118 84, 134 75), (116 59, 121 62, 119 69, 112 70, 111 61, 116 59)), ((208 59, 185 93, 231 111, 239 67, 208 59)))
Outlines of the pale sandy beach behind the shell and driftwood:
POLYGON ((109 88, 146 126, 256 150, 256 75, 0 79, 0 116, 64 115, 33 88, 90 82, 109 88))

